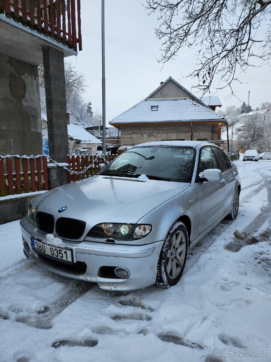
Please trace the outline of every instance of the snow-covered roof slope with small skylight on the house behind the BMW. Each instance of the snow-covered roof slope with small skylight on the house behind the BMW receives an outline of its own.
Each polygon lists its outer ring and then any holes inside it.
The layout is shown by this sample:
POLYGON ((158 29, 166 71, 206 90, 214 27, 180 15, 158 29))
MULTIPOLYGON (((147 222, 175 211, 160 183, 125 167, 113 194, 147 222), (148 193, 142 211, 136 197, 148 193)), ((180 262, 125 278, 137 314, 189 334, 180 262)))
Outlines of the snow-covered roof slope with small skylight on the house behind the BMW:
POLYGON ((223 116, 190 99, 177 100, 142 100, 124 111, 109 123, 149 123, 149 122, 185 122, 185 121, 216 121, 227 122, 223 116), (158 110, 151 110, 158 106, 158 110))

